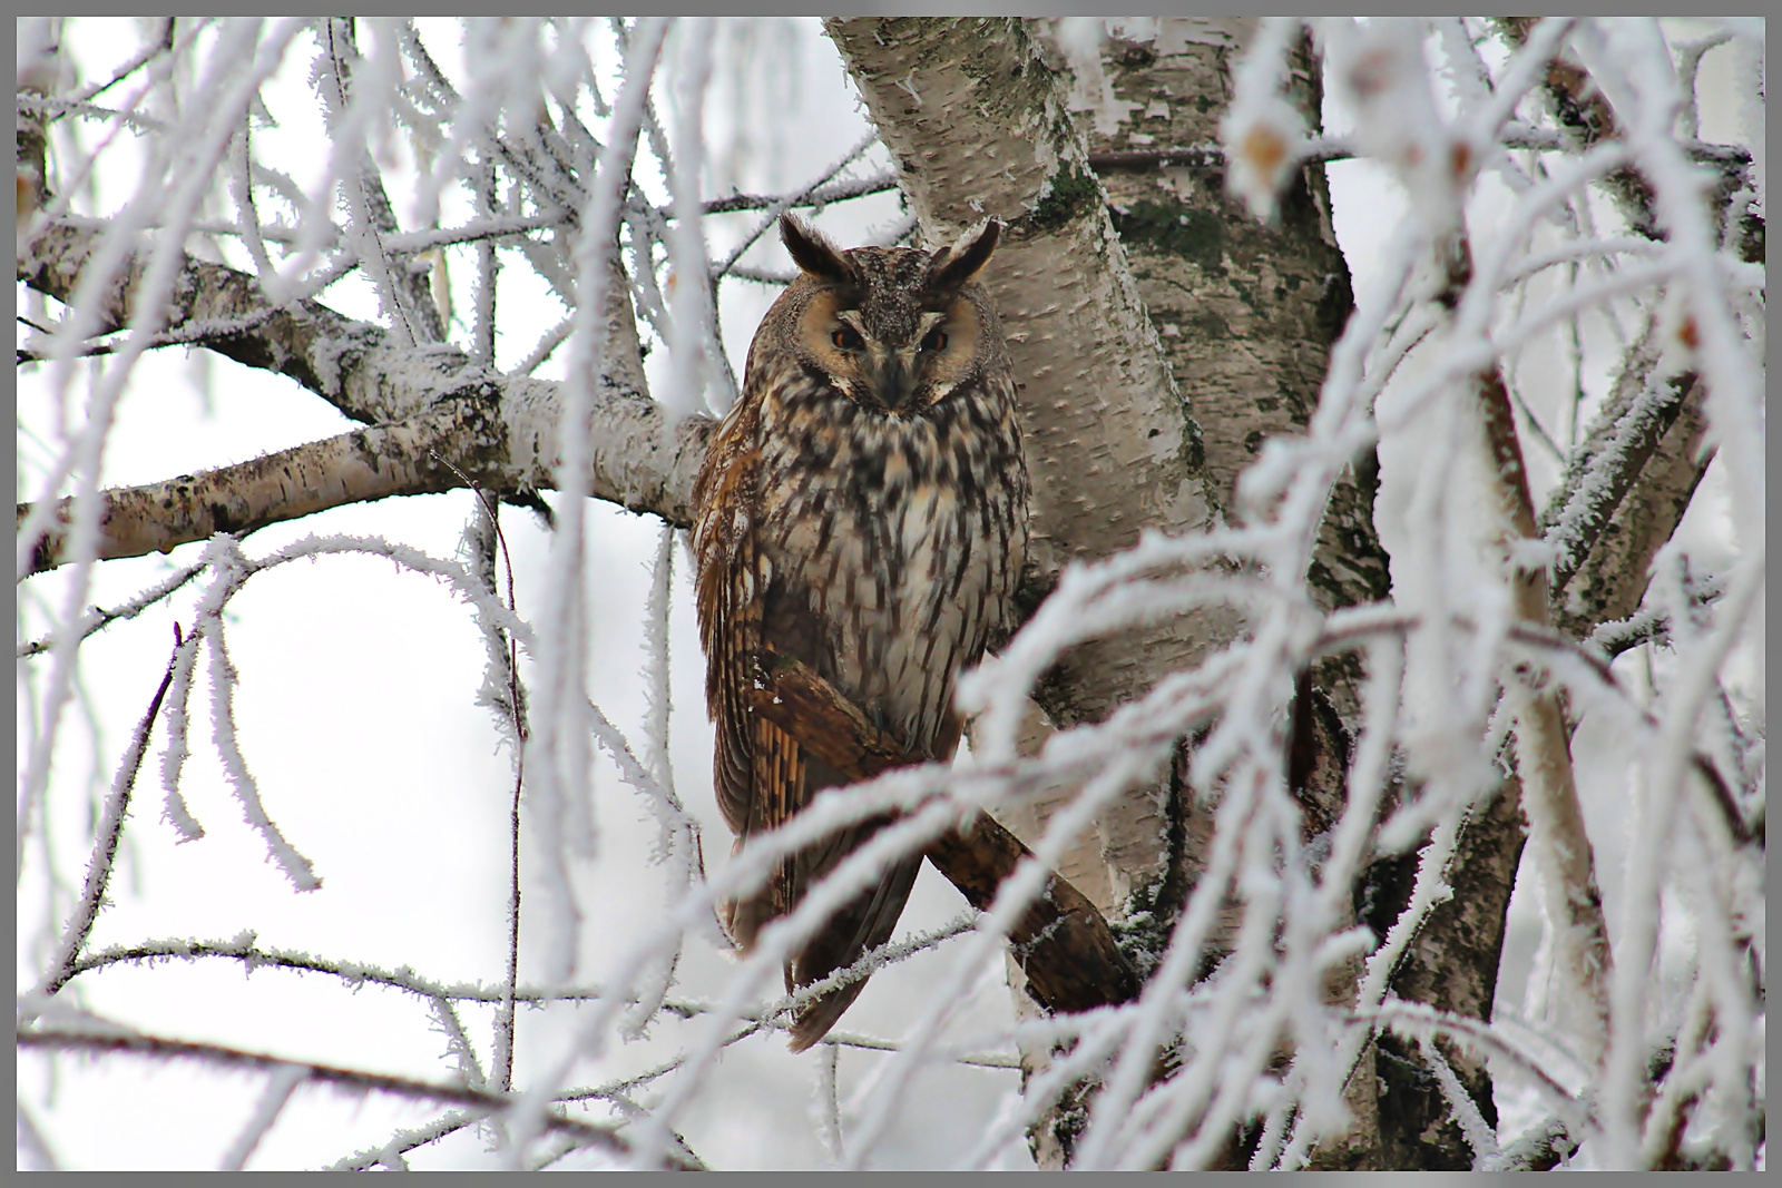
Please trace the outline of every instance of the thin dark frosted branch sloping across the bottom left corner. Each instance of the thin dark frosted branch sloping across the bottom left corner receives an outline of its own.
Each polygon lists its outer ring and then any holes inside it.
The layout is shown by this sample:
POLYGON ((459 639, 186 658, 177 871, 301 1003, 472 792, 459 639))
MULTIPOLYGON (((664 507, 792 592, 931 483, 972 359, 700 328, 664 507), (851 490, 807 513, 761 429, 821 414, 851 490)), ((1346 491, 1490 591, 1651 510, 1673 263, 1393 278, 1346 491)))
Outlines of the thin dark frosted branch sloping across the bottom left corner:
MULTIPOLYGON (((239 1047, 225 1047, 221 1044, 192 1044, 187 1040, 166 1040, 151 1035, 94 1035, 84 1031, 29 1029, 18 1033, 18 1046, 21 1049, 50 1053, 127 1053, 155 1060, 201 1060, 205 1063, 230 1069, 294 1069, 303 1074, 299 1085, 337 1085, 340 1088, 358 1092, 394 1094, 410 1101, 449 1103, 476 1110, 483 1115, 499 1113, 515 1103, 513 1097, 486 1094, 463 1085, 429 1085, 428 1081, 385 1076, 381 1072, 339 1069, 335 1065, 317 1065, 303 1060, 282 1060, 278 1056, 248 1053, 239 1047)), ((613 1152, 624 1154, 631 1149, 622 1136, 604 1126, 593 1126, 579 1119, 567 1119, 549 1110, 544 1115, 544 1126, 545 1129, 568 1135, 581 1143, 606 1147, 613 1152)), ((670 1156, 670 1160, 674 1160, 674 1156, 670 1156)), ((699 1165, 681 1160, 675 1160, 675 1167, 683 1172, 704 1170, 699 1165)))

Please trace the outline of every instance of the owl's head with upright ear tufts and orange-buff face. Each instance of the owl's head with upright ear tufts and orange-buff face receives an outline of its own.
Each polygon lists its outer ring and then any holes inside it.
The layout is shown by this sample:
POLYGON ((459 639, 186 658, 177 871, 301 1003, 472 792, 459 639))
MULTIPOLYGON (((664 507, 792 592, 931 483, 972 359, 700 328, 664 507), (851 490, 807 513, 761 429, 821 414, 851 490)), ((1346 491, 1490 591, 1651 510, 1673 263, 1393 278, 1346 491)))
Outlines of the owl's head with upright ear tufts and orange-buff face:
POLYGON ((989 221, 939 251, 841 251, 786 214, 781 239, 802 274, 763 330, 775 324, 781 347, 857 404, 918 415, 987 367, 1007 369, 989 294, 971 280, 1000 232, 989 221))

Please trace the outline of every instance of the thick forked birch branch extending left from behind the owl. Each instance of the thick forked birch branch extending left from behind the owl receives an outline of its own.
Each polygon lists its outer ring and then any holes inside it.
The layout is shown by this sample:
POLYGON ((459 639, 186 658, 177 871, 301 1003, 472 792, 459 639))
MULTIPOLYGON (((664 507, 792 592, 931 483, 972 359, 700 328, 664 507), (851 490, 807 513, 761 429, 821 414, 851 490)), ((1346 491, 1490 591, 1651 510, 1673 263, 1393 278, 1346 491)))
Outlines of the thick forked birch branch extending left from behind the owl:
MULTIPOLYGON (((20 256, 20 280, 71 299, 98 237, 89 226, 45 228, 20 256)), ((128 324, 144 269, 146 256, 137 253, 102 290, 103 330, 128 324)), ((615 306, 590 411, 590 492, 686 525, 713 422, 690 417, 666 429, 645 394, 627 287, 611 289, 615 306)), ((169 326, 196 331, 196 342, 248 367, 290 376, 371 427, 196 476, 107 490, 100 557, 164 552, 349 502, 453 490, 463 486, 453 467, 490 490, 556 484, 558 383, 488 370, 449 346, 397 347, 381 328, 317 301, 278 306, 257 278, 191 256, 173 292, 178 308, 168 312, 169 326)), ((21 525, 30 504, 16 511, 21 525)), ((66 561, 69 517, 66 502, 55 509, 32 572, 66 561)))

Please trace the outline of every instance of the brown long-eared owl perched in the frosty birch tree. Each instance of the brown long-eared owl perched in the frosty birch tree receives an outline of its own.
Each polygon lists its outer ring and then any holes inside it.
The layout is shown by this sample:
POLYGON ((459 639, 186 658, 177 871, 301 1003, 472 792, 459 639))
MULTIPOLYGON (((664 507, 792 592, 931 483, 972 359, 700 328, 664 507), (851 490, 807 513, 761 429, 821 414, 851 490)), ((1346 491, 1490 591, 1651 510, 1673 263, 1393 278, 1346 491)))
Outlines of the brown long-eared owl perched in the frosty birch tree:
MULTIPOLYGON (((955 673, 1012 627, 1026 461, 1009 349, 973 281, 1000 230, 987 223, 932 253, 841 251, 781 219, 800 274, 756 331, 743 395, 693 490, 713 782, 732 853, 848 784, 748 712, 754 655, 809 664, 914 755, 944 761, 960 732, 955 673)), ((720 905, 731 939, 752 949, 886 823, 834 834, 720 905)), ((786 964, 788 994, 884 944, 920 866, 921 855, 896 862, 836 910, 786 964)), ((809 1003, 791 1049, 823 1038, 862 985, 809 1003)))

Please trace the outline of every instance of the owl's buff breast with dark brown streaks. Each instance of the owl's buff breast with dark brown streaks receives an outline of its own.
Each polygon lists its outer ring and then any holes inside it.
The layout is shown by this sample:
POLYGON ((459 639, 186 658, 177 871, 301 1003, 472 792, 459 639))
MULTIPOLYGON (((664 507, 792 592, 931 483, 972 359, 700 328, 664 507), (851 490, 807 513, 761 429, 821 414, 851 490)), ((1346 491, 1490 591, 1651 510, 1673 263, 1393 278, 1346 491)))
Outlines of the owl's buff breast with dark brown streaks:
POLYGON ((766 632, 928 750, 1026 549, 1014 385, 896 417, 798 374, 761 413, 766 632), (800 632, 822 639, 798 647, 800 632))

